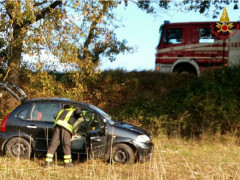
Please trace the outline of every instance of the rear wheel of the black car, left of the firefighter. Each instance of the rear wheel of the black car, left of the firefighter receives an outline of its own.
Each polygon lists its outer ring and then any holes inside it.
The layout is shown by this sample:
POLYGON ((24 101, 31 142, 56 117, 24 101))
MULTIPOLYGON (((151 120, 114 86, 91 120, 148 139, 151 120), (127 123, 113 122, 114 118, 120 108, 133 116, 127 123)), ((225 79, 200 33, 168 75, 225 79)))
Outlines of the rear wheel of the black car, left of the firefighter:
POLYGON ((30 158, 31 146, 25 139, 15 137, 7 142, 5 154, 9 157, 30 158))

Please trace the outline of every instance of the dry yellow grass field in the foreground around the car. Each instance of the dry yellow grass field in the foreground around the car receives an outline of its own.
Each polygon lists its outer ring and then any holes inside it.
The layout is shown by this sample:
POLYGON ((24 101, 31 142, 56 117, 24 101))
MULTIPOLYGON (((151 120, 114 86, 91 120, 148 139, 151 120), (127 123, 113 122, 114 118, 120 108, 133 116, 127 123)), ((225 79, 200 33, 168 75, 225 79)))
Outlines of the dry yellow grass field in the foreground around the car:
POLYGON ((101 160, 77 163, 65 169, 40 166, 43 159, 0 158, 0 179, 240 179, 240 147, 219 141, 155 139, 153 158, 133 165, 101 160))

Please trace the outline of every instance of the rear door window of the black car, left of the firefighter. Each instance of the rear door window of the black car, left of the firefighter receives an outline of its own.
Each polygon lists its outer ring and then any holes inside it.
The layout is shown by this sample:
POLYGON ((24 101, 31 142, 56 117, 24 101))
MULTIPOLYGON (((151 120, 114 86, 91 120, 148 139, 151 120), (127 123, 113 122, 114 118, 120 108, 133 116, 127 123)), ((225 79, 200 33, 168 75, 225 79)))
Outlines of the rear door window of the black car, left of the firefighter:
POLYGON ((59 112, 60 108, 57 103, 44 102, 36 103, 33 106, 30 119, 33 121, 49 121, 54 122, 54 114, 59 112))

